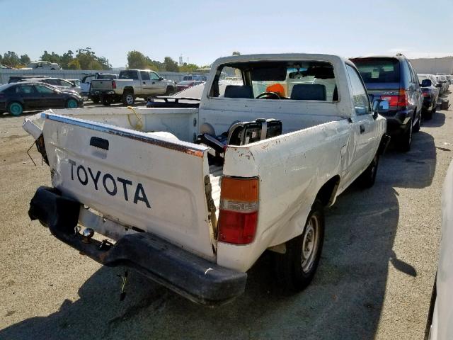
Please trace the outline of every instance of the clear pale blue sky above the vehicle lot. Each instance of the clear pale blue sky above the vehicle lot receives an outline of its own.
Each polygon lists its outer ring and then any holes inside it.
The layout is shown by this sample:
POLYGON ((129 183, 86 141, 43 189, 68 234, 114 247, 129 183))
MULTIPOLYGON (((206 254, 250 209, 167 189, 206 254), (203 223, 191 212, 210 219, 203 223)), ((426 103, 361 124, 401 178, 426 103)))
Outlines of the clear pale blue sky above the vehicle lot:
POLYGON ((0 0, 0 53, 91 47, 113 67, 139 50, 195 64, 260 52, 453 55, 453 0, 0 0))

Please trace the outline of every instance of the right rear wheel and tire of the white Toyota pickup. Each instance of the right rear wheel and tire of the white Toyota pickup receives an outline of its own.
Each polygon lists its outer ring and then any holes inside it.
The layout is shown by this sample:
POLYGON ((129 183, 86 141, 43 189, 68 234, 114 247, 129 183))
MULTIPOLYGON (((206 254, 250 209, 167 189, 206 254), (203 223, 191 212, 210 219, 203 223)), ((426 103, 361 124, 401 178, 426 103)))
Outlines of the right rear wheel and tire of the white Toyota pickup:
POLYGON ((323 240, 323 205, 320 200, 315 200, 311 206, 309 217, 306 219, 304 232, 286 242, 285 254, 274 254, 275 274, 280 287, 289 292, 298 292, 309 285, 314 278, 316 268, 318 268, 319 259, 321 259, 323 240), (309 251, 307 246, 309 245, 310 235, 314 242, 314 248, 309 252, 309 259, 306 259, 304 253, 309 251))

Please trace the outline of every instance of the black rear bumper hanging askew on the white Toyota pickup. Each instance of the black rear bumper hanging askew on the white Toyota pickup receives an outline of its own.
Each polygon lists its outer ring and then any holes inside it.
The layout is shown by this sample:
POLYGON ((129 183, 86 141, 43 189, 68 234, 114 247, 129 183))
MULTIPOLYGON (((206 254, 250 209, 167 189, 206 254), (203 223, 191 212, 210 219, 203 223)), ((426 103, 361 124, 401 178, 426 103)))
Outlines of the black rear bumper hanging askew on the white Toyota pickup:
POLYGON ((245 290, 246 273, 218 266, 147 232, 127 234, 114 245, 95 239, 85 243, 74 232, 79 209, 79 202, 62 197, 55 188, 40 187, 30 201, 28 215, 81 254, 105 266, 133 268, 193 302, 222 305, 245 290))

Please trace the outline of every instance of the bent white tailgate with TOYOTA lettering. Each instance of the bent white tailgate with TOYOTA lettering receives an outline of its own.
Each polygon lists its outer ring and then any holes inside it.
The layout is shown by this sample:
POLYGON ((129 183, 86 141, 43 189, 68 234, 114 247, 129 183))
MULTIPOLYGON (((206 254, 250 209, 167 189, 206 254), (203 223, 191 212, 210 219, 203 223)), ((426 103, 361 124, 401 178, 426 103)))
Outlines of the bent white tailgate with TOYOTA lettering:
POLYGON ((215 259, 207 148, 43 113, 52 184, 110 219, 215 259))

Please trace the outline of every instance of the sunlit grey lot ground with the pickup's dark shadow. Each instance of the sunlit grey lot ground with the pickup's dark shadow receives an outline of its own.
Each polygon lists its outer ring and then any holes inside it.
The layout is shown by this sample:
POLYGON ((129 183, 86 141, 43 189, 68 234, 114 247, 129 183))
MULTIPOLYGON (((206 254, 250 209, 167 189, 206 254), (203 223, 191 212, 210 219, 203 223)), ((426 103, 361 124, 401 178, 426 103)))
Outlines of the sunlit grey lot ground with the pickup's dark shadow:
MULTIPOLYGON (((449 96, 453 102, 453 96, 449 96)), ((0 339, 422 339, 437 266, 440 197, 453 156, 453 113, 438 111, 390 149, 376 185, 352 186, 327 212, 314 282, 297 295, 275 287, 268 256, 246 293, 223 307, 195 305, 121 268, 103 268, 28 218, 49 169, 21 128, 0 118, 0 339)))

